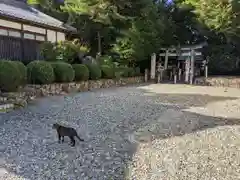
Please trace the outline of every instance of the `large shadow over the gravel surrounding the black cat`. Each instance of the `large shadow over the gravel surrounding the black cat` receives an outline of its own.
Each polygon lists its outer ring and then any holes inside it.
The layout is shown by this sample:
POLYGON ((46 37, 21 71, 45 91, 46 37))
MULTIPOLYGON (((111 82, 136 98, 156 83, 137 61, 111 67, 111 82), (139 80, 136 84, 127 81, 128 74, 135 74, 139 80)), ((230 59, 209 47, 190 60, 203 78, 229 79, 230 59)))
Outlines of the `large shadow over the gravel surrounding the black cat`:
POLYGON ((115 90, 103 90, 108 100, 104 100, 105 96, 100 92, 84 93, 84 98, 78 94, 68 97, 74 104, 70 107, 63 97, 50 101, 46 98, 25 110, 2 115, 0 180, 10 180, 9 174, 26 180, 125 180, 139 143, 216 126, 240 125, 239 119, 184 111, 189 107, 204 107, 212 102, 236 98, 154 94, 136 87, 115 90), (129 97, 120 96, 125 94, 123 89, 129 92, 129 97), (108 104, 109 98, 114 102, 108 104), (91 106, 89 99, 97 100, 97 104, 91 106), (63 103, 64 110, 59 107, 63 103), (87 105, 83 106, 84 103, 87 105), (45 106, 48 110, 42 111, 45 106), (96 116, 101 116, 102 124, 93 122, 96 116), (57 144, 55 132, 50 127, 55 119, 63 118, 78 131, 88 134, 85 143, 77 142, 75 148, 57 144), (85 118, 90 121, 84 121, 85 118))

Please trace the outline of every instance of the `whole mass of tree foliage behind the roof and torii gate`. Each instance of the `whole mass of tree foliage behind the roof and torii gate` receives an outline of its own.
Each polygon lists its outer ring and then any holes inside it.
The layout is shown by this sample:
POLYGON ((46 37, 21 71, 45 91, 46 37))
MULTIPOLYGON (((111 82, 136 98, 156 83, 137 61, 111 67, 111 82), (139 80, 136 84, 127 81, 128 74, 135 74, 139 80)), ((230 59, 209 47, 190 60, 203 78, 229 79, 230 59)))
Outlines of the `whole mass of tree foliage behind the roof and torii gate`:
POLYGON ((111 55, 123 67, 149 64, 162 46, 202 41, 209 44, 204 53, 215 70, 234 69, 240 55, 239 0, 30 1, 76 27, 90 55, 111 55))

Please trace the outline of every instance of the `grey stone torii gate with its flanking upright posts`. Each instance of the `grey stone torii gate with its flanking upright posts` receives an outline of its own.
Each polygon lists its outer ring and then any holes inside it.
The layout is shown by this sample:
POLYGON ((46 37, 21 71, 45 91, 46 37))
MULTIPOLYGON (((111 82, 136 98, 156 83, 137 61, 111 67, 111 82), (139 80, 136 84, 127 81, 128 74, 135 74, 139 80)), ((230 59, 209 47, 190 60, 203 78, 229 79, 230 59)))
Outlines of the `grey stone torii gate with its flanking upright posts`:
MULTIPOLYGON (((207 43, 201 43, 198 45, 188 45, 182 47, 170 47, 170 48, 161 48, 161 51, 165 51, 164 53, 160 53, 160 57, 165 57, 164 60, 164 70, 168 68, 168 57, 186 57, 185 60, 185 82, 189 84, 193 84, 194 78, 194 65, 195 65, 195 57, 201 56, 202 53, 196 50, 203 48, 207 43)), ((156 76, 156 54, 152 54, 151 57, 151 79, 155 79, 156 76)), ((205 77, 207 77, 207 63, 205 63, 205 77)))

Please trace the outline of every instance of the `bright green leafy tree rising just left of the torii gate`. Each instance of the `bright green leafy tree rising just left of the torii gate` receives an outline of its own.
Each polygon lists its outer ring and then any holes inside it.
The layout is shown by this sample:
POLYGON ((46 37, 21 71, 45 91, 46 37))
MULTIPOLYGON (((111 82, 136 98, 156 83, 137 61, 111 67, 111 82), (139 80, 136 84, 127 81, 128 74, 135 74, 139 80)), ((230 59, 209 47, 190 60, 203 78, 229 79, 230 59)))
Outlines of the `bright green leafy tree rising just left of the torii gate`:
MULTIPOLYGON (((138 4, 139 5, 139 4, 138 4)), ((113 46, 120 55, 120 62, 134 66, 137 61, 148 59, 157 53, 163 44, 166 14, 159 11, 163 4, 144 1, 139 15, 131 22, 131 27, 113 46)))

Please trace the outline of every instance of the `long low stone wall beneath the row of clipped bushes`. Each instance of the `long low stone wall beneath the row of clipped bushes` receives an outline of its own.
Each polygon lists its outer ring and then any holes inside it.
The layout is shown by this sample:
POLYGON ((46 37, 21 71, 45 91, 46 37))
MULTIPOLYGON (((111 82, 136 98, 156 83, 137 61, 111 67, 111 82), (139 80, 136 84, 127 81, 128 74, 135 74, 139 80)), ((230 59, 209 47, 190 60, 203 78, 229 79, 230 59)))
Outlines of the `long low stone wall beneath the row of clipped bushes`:
POLYGON ((51 96, 51 95, 64 95, 73 92, 83 92, 93 89, 110 88, 116 86, 124 86, 128 84, 143 83, 144 77, 129 77, 121 78, 119 80, 114 79, 101 79, 90 80, 82 82, 71 82, 63 84, 48 84, 48 85, 26 85, 21 88, 19 92, 1 93, 1 104, 15 104, 16 106, 25 106, 28 101, 34 100, 37 97, 51 96))

